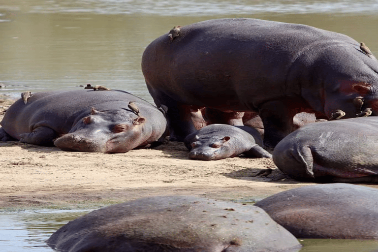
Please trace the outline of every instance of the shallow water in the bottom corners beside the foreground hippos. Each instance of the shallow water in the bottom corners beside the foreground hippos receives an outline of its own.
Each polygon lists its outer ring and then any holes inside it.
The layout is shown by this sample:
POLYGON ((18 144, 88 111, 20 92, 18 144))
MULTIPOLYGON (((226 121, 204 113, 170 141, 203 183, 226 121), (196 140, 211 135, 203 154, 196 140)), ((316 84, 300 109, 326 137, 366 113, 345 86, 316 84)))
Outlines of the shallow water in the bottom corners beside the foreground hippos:
MULTIPOLYGON (((88 210, 0 212, 1 252, 52 252, 44 241, 68 221, 88 210)), ((300 252, 377 252, 378 241, 304 239, 300 252)))

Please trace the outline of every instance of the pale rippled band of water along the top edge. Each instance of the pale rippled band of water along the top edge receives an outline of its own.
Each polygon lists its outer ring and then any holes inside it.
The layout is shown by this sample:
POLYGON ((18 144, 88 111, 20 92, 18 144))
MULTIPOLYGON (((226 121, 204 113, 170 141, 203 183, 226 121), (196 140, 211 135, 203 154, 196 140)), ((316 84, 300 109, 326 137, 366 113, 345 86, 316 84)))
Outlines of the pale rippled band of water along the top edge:
POLYGON ((154 14, 161 16, 244 15, 256 13, 364 13, 377 14, 376 0, 65 0, 33 1, 29 6, 0 5, 6 9, 28 9, 30 13, 90 12, 98 14, 154 14))

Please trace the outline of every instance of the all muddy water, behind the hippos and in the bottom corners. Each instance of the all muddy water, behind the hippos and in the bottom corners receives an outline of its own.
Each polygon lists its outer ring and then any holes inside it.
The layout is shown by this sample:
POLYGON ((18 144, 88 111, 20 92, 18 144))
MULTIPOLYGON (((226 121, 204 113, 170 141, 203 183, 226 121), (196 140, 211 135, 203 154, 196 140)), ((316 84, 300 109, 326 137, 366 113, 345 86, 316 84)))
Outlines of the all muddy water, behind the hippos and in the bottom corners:
MULTIPOLYGON (((0 95, 92 83, 152 101, 140 70, 144 48, 175 25, 226 17, 341 32, 378 55, 376 0, 0 0, 0 95)), ((0 213, 0 251, 52 251, 43 241, 83 211, 0 213)), ((378 250, 376 241, 301 242, 306 252, 378 250)))

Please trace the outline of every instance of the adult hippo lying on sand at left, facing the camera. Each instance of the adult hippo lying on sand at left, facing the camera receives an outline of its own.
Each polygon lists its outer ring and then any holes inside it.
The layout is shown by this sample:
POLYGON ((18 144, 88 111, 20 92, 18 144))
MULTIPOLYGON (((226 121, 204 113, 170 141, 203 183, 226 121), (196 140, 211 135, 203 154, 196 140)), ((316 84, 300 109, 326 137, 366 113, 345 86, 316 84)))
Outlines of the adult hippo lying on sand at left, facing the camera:
POLYGON ((65 151, 125 153, 158 145, 166 130, 162 112, 123 91, 73 90, 33 93, 17 100, 1 121, 0 140, 20 140, 65 151), (140 116, 128 103, 140 110, 140 116))

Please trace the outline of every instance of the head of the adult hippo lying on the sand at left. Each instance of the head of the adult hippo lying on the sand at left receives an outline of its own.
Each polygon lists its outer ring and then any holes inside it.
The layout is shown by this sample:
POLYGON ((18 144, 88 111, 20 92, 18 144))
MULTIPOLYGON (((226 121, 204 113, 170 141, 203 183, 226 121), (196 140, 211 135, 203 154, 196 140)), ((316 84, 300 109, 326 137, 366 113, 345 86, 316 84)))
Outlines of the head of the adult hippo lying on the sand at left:
POLYGON ((143 145, 146 119, 121 110, 96 111, 54 141, 65 151, 125 153, 143 145))

